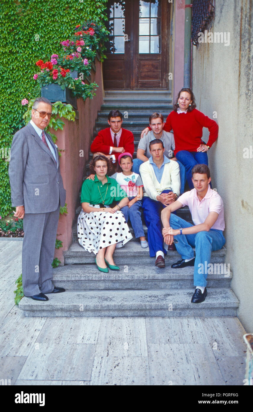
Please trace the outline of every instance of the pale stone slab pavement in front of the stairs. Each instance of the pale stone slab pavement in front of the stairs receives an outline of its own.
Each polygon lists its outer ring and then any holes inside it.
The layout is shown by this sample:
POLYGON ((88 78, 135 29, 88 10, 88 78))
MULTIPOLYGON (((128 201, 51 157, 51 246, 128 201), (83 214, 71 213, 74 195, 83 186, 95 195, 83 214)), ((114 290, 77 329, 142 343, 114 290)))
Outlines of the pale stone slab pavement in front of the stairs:
POLYGON ((0 241, 0 379, 11 385, 243 385, 246 332, 237 317, 23 317, 13 293, 22 243, 0 241))

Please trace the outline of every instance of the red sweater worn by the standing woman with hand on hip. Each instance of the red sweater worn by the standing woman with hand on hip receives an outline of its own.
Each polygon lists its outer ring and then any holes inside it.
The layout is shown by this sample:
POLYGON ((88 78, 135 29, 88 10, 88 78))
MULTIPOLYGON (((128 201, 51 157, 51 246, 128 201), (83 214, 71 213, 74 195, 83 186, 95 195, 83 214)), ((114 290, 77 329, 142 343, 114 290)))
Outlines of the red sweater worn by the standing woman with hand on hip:
POLYGON ((209 119, 197 109, 192 112, 177 113, 174 110, 169 114, 164 124, 165 131, 173 129, 175 139, 174 154, 180 150, 187 150, 188 152, 197 152, 197 148, 201 145, 201 137, 203 135, 203 127, 207 127, 210 134, 208 146, 215 142, 218 138, 218 124, 209 119))

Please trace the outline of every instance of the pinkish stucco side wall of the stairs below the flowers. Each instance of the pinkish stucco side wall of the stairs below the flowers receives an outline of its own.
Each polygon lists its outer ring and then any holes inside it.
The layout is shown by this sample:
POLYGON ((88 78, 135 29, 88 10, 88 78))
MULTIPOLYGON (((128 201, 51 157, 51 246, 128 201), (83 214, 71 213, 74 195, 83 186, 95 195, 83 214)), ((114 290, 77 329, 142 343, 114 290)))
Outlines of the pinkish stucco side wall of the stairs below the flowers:
POLYGON ((63 149, 60 158, 61 176, 66 189, 66 203, 68 214, 60 215, 57 228, 57 239, 63 242, 63 247, 55 250, 54 257, 58 258, 63 265, 63 251, 68 250, 73 242, 72 225, 75 219, 75 210, 78 204, 78 194, 82 186, 82 178, 85 174, 85 165, 89 159, 91 136, 95 121, 103 103, 103 77, 102 64, 96 59, 96 72, 91 70, 91 81, 98 84, 96 96, 87 98, 84 102, 82 98, 77 99, 77 110, 79 119, 70 122, 64 119, 63 130, 55 132, 56 144, 59 149, 63 149))

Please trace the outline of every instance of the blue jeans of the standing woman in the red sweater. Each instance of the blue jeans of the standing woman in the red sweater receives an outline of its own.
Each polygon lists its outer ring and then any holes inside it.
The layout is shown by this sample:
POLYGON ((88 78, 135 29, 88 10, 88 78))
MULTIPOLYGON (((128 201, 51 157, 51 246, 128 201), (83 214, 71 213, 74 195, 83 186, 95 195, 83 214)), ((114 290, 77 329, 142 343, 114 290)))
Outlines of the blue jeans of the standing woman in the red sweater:
MULTIPOLYGON (((206 166, 208 166, 207 153, 188 152, 187 150, 180 150, 179 152, 177 152, 176 158, 185 166, 186 178, 189 188, 190 190, 193 189, 194 186, 192 183, 192 168, 193 166, 195 166, 195 164, 206 164, 206 166)), ((212 188, 211 182, 210 187, 212 188)))

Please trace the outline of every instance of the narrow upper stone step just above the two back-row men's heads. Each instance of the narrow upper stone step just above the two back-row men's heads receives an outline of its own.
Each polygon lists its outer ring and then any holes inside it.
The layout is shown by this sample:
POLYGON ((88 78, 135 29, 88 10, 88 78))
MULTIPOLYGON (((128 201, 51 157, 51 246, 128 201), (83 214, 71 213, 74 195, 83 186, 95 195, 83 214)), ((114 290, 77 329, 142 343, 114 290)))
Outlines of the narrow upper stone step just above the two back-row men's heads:
POLYGON ((112 103, 112 104, 103 104, 101 105, 101 112, 106 112, 107 114, 109 114, 110 110, 120 110, 122 113, 125 110, 131 110, 131 112, 140 112, 140 113, 146 113, 147 116, 149 117, 150 115, 152 115, 152 113, 155 112, 166 112, 166 116, 169 115, 169 112, 171 112, 171 110, 173 109, 173 105, 171 103, 159 103, 159 104, 155 104, 153 105, 148 104, 145 102, 145 105, 139 103, 127 103, 127 104, 122 104, 122 103, 112 103))

